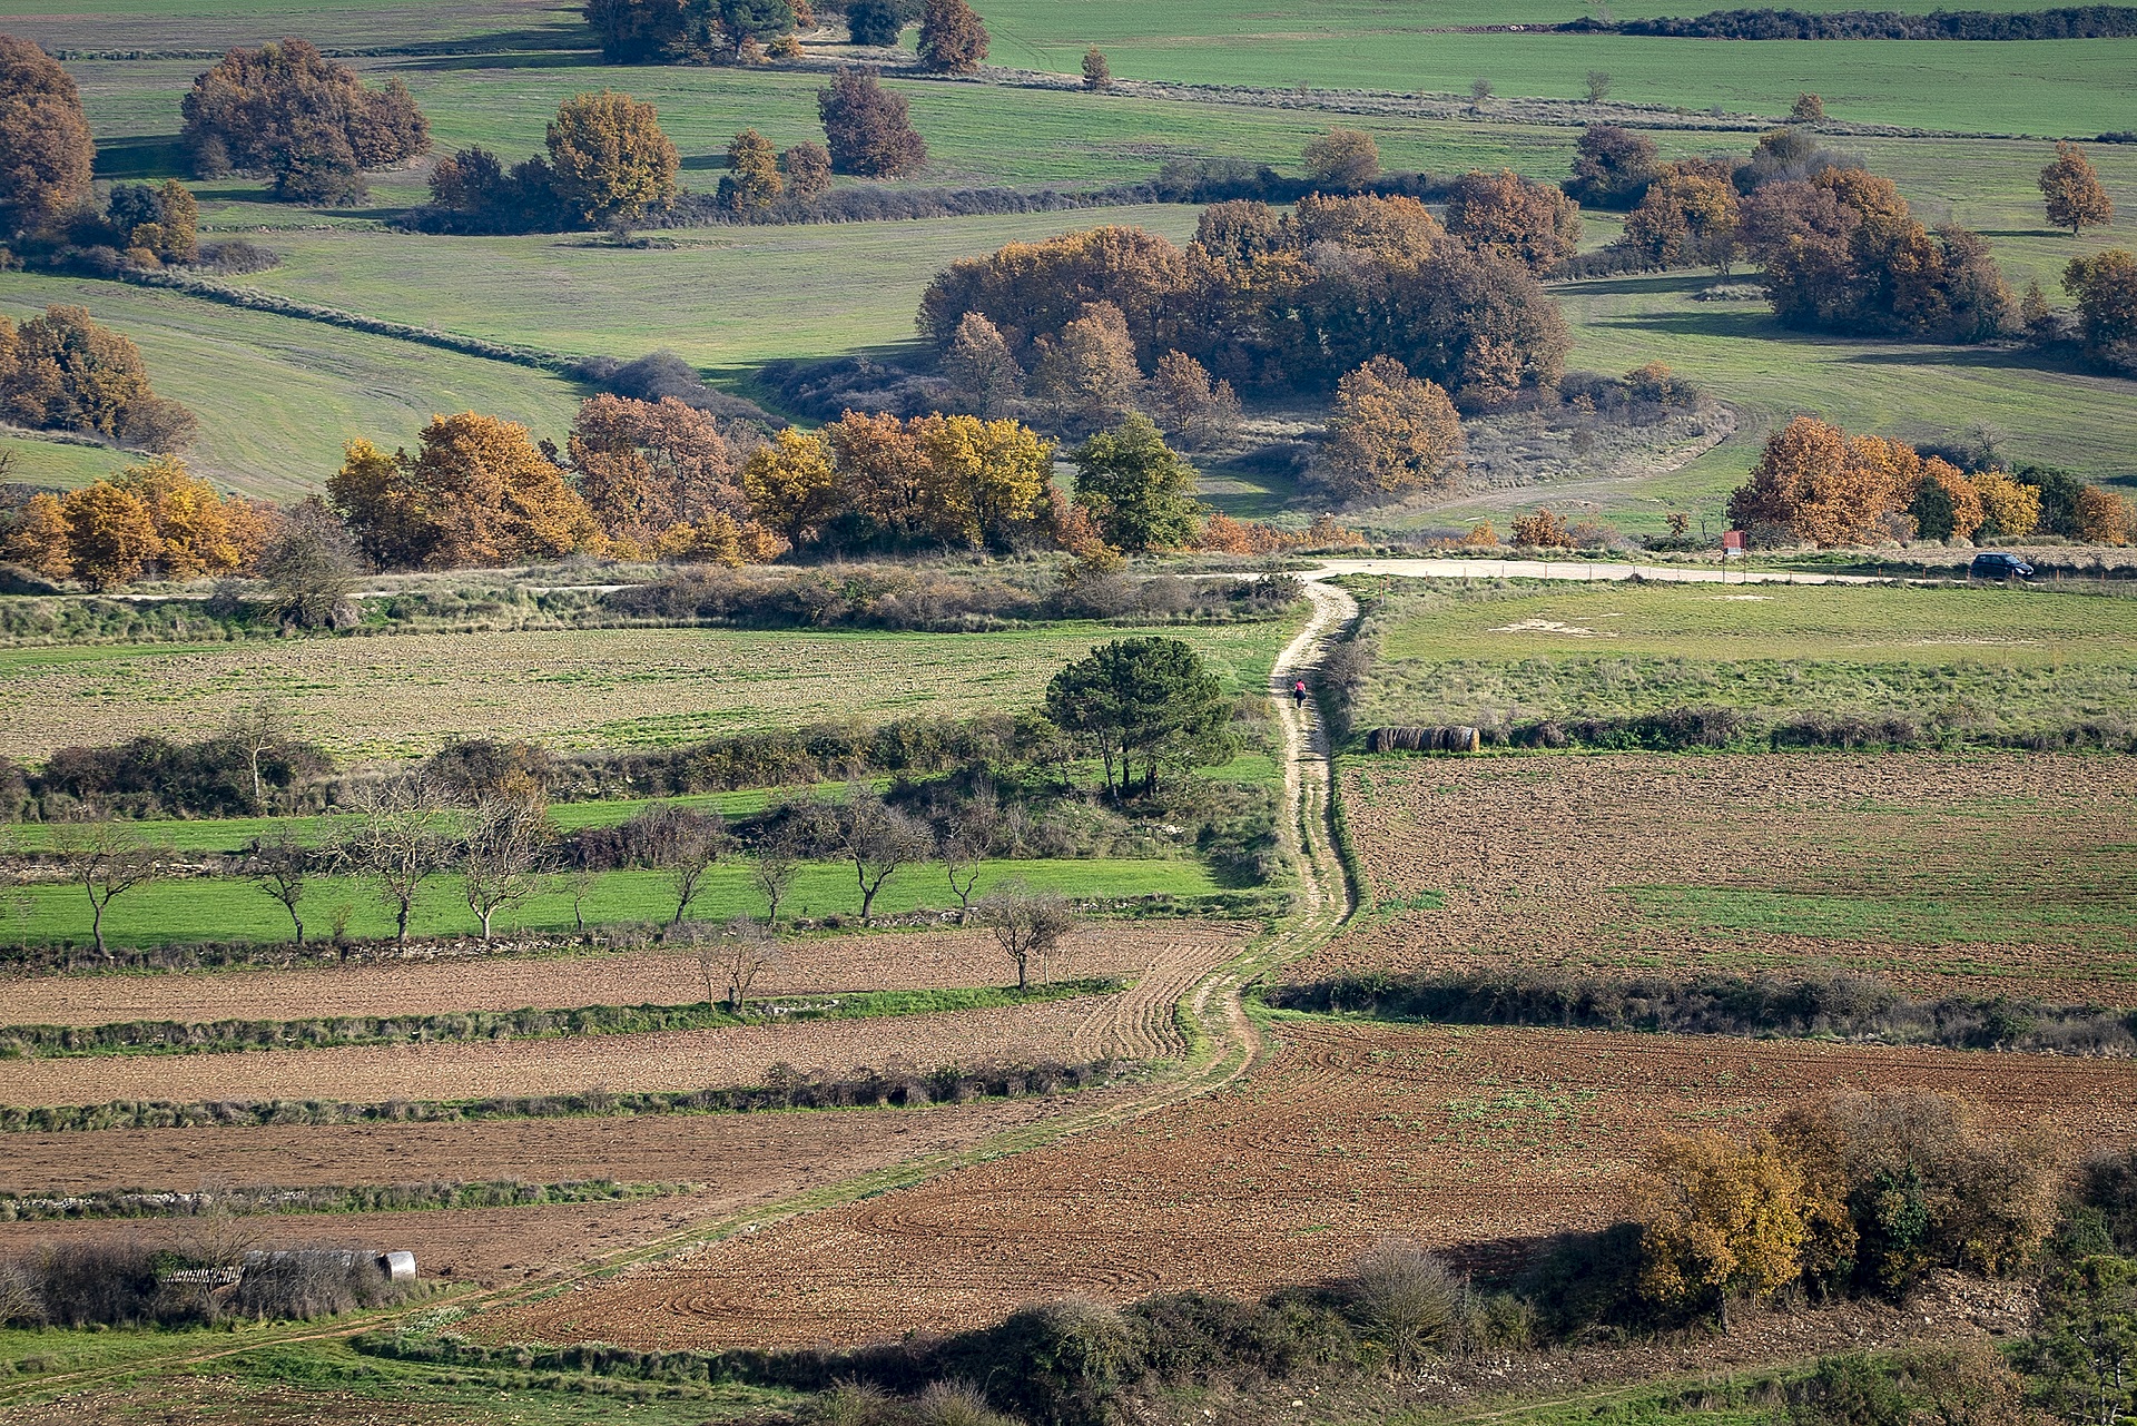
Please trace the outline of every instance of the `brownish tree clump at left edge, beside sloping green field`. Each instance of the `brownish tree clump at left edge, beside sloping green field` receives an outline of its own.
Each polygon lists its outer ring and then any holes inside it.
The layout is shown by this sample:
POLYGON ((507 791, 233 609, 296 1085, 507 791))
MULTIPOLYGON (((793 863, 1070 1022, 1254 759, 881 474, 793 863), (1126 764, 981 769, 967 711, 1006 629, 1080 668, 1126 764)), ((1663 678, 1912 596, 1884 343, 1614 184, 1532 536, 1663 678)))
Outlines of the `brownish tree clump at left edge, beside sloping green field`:
POLYGON ((0 415, 145 451, 182 451, 197 430, 190 410, 150 387, 141 348, 73 306, 21 327, 0 316, 0 415))

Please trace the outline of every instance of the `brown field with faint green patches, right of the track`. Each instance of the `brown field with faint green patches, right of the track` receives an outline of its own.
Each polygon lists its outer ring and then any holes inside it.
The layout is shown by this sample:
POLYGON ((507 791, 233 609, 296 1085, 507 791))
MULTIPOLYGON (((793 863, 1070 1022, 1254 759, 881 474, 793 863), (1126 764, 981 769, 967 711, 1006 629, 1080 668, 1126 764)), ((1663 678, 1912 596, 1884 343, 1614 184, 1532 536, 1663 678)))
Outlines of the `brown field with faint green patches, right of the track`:
POLYGON ((1291 979, 1507 964, 1851 968, 2137 1005, 2137 759, 1355 759, 1370 900, 1291 979))

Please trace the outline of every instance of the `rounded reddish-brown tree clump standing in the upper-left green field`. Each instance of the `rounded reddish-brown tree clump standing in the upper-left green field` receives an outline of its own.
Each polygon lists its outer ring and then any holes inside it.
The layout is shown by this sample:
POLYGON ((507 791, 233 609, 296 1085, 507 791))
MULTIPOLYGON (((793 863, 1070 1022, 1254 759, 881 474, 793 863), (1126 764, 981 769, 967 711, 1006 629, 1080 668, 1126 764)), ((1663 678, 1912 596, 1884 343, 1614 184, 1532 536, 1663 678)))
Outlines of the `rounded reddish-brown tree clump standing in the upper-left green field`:
POLYGON ((370 90, 301 38, 231 49, 192 81, 182 113, 199 177, 265 173, 276 197, 299 203, 357 203, 365 169, 430 152, 430 120, 408 86, 370 90))

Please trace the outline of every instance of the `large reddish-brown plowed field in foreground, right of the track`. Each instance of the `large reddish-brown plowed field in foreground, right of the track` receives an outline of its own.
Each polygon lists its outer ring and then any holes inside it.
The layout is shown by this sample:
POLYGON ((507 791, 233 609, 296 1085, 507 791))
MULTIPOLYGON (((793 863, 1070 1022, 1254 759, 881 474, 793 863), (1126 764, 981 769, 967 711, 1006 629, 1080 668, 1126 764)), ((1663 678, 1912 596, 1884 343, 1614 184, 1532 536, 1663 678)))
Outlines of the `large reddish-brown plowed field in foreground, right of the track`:
POLYGON ((1233 1088, 910 1191, 769 1225, 472 1326, 643 1347, 853 1345, 1034 1298, 1259 1293, 1385 1234, 1590 1227, 1667 1129, 1836 1086, 1966 1095, 2043 1152, 2137 1140, 2137 1065, 1799 1041, 1286 1022, 1233 1088))

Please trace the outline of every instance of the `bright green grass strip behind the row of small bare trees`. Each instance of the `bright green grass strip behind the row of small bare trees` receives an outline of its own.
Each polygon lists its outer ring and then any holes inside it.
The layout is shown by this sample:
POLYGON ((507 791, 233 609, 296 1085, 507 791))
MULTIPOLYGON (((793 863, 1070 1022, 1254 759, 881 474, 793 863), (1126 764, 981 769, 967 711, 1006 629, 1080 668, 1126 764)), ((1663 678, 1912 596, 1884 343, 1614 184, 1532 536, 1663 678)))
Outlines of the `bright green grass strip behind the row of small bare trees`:
MULTIPOLYGON (((1210 896, 1218 889, 1201 862, 1109 857, 1094 862, 987 862, 981 868, 979 894, 1002 881, 1024 879, 1066 896, 1210 896)), ((690 904, 695 921, 724 921, 735 915, 763 915, 765 898, 750 881, 746 864, 722 864, 707 872, 699 898, 690 904)), ((79 887, 30 887, 28 915, 0 915, 0 939, 32 945, 73 941, 90 943, 90 904, 79 887)), ((378 898, 376 883, 361 877, 314 877, 306 883, 306 930, 325 936, 338 909, 348 909, 348 934, 383 939, 393 934, 393 913, 378 898)), ((876 913, 898 915, 919 906, 957 906, 942 868, 908 866, 883 883, 876 913)), ((665 872, 603 872, 586 898, 588 924, 667 921, 675 913, 665 872)), ((861 892, 853 866, 840 862, 804 864, 782 915, 825 917, 859 915, 861 892)), ((528 898, 521 906, 500 913, 496 930, 571 930, 571 892, 562 885, 528 898)), ((410 930, 419 936, 459 936, 481 928, 462 898, 457 877, 434 877, 417 896, 410 930)), ((105 939, 113 945, 162 945, 184 941, 282 941, 291 932, 288 913, 250 883, 194 877, 186 881, 154 881, 111 902, 105 913, 105 939)))

